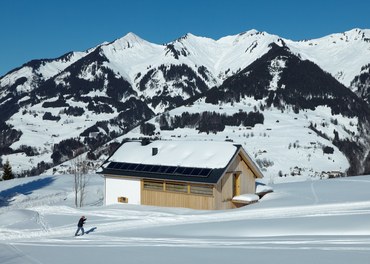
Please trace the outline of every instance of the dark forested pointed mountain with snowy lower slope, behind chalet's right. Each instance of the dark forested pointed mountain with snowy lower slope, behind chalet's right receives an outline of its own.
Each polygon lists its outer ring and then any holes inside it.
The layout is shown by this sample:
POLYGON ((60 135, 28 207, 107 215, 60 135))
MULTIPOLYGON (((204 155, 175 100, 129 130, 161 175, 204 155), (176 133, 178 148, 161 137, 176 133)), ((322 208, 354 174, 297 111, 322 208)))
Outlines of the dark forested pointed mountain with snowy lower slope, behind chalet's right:
POLYGON ((369 113, 368 106, 331 75, 273 44, 199 100, 125 136, 232 140, 251 151, 271 178, 320 178, 328 170, 364 170, 369 113))

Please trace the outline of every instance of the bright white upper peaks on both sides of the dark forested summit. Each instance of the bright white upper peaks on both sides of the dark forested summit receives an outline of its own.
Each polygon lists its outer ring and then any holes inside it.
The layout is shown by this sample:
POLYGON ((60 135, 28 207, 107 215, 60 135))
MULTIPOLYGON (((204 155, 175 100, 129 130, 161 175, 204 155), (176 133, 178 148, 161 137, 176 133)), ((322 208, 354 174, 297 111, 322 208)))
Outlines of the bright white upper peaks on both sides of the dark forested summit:
POLYGON ((370 31, 367 29, 353 29, 305 41, 292 41, 257 30, 218 40, 188 33, 168 43, 179 52, 177 60, 168 56, 171 53, 166 46, 149 43, 133 33, 104 46, 103 50, 111 61, 110 67, 127 76, 131 83, 135 82, 136 74, 145 72, 149 65, 185 63, 194 68, 205 66, 220 84, 265 54, 273 42, 287 45, 346 86, 360 73, 362 66, 370 63, 370 31))

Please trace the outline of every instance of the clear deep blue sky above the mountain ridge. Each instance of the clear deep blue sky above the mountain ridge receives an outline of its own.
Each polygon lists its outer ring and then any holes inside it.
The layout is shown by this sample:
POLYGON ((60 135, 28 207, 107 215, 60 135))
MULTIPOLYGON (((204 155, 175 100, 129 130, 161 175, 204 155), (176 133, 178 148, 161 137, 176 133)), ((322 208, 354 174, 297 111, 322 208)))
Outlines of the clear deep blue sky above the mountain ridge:
POLYGON ((370 28, 368 0, 2 0, 0 76, 32 59, 82 51, 134 32, 166 43, 250 29, 293 40, 370 28))

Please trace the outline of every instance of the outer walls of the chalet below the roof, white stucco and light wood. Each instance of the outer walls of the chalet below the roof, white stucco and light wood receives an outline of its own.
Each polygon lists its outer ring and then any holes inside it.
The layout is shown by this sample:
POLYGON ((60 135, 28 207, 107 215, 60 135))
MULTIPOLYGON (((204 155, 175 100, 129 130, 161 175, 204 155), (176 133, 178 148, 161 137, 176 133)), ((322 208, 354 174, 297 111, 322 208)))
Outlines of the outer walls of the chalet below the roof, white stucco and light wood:
POLYGON ((254 194, 255 179, 262 177, 243 148, 239 148, 230 157, 230 162, 222 171, 217 182, 213 183, 179 180, 175 175, 164 179, 147 178, 145 175, 133 177, 106 174, 106 185, 115 188, 114 191, 106 188, 106 193, 111 192, 110 201, 130 203, 134 200, 137 201, 136 204, 142 205, 224 210, 240 207, 241 204, 233 202, 233 198, 242 194, 254 194))

